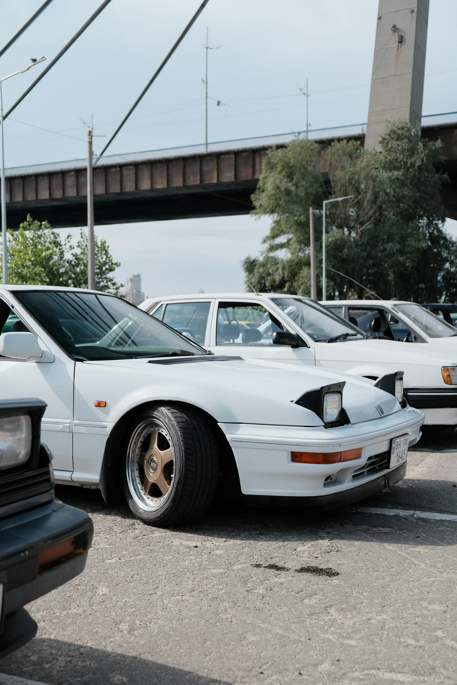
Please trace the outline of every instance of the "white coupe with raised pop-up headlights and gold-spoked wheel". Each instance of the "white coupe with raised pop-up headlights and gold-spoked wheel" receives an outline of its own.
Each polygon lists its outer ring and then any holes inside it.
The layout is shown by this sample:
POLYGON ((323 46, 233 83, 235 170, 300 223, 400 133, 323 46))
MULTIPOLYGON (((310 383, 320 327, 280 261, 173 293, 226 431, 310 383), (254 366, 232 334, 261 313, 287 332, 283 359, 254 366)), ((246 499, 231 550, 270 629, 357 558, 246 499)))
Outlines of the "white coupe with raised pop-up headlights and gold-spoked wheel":
POLYGON ((402 479, 420 437, 402 373, 376 387, 217 356, 103 292, 0 286, 0 331, 0 398, 47 402, 56 480, 123 493, 151 525, 195 519, 218 487, 251 504, 343 506, 402 479))

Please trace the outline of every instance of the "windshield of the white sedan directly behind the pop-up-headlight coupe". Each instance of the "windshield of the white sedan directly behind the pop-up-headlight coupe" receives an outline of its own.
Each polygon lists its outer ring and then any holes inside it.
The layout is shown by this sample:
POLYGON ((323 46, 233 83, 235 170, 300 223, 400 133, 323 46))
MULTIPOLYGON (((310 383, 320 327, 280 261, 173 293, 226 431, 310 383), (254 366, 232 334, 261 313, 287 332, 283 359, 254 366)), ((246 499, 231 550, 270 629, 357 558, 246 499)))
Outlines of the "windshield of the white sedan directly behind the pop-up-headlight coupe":
POLYGON ((327 342, 335 336, 341 336, 341 340, 363 338, 356 326, 316 302, 298 297, 275 297, 273 302, 317 343, 327 342))

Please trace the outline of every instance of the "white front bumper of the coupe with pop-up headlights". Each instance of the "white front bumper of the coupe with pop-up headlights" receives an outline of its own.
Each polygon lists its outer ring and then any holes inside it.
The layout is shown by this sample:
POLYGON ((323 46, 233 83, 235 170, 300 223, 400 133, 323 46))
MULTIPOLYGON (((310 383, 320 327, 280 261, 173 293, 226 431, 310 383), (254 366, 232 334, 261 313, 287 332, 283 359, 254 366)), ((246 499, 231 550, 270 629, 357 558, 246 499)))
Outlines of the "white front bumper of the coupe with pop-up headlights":
POLYGON ((410 434, 410 446, 415 445, 422 423, 422 412, 406 407, 380 419, 328 429, 233 423, 220 426, 232 447, 243 495, 272 497, 274 501, 293 497, 306 502, 310 498, 320 506, 316 498, 325 498, 325 503, 333 501, 330 495, 334 495, 334 501, 338 501, 342 493, 352 491, 351 497, 367 497, 362 486, 379 478, 373 491, 386 487, 385 478, 392 473, 386 468, 391 438, 410 434), (292 451, 338 452, 357 448, 362 448, 362 456, 349 462, 300 464, 291 458, 292 451))

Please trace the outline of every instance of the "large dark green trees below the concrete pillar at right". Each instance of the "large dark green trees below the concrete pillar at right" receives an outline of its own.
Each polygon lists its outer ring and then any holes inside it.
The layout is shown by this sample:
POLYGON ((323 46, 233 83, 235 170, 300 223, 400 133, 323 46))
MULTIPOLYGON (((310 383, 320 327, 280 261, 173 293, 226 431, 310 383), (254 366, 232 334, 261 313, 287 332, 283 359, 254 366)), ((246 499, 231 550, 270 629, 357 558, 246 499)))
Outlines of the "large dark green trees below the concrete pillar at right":
MULTIPOLYGON (((273 223, 260 257, 243 262, 256 290, 309 295, 309 206, 354 195, 327 205, 328 299, 371 297, 332 267, 385 299, 455 301, 457 243, 443 230, 441 142, 422 140, 406 121, 389 125, 380 142, 380 152, 360 149, 355 141, 333 142, 321 157, 325 184, 315 143, 295 140, 268 153, 253 213, 268 214, 273 223)), ((319 216, 314 233, 319 289, 319 216)))

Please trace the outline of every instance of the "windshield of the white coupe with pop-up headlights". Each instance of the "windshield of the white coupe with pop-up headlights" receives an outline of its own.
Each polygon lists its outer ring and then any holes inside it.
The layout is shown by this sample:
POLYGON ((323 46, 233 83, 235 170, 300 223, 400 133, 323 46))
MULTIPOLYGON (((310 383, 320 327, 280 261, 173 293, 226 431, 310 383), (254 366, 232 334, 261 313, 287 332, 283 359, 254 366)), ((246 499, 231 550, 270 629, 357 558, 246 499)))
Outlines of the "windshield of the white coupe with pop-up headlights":
POLYGON ((31 290, 14 295, 74 358, 203 354, 160 321, 113 295, 31 290))

